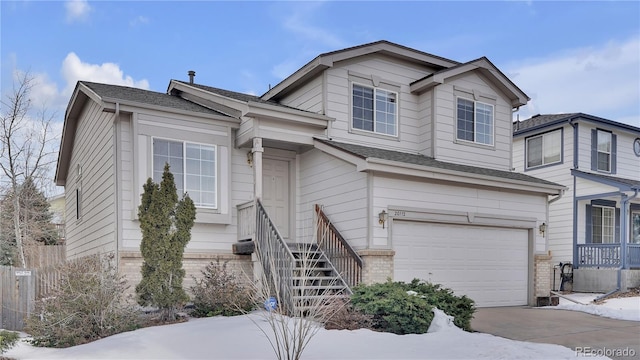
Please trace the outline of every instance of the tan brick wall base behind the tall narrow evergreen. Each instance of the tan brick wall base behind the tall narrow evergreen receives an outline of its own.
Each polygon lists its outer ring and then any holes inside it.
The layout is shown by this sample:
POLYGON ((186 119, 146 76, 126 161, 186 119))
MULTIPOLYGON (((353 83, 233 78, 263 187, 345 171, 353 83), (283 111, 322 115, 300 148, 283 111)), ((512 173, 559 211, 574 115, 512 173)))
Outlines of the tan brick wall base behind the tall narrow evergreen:
MULTIPOLYGON (((185 270, 183 280, 184 289, 189 293, 189 288, 194 284, 192 276, 202 277, 202 270, 211 262, 219 261, 227 263, 227 270, 234 273, 242 282, 253 282, 253 263, 250 255, 233 254, 184 254, 182 268, 185 270)), ((135 286, 142 279, 140 267, 142 266, 142 254, 140 252, 120 253, 120 274, 124 275, 131 286, 129 291, 135 294, 135 286)))

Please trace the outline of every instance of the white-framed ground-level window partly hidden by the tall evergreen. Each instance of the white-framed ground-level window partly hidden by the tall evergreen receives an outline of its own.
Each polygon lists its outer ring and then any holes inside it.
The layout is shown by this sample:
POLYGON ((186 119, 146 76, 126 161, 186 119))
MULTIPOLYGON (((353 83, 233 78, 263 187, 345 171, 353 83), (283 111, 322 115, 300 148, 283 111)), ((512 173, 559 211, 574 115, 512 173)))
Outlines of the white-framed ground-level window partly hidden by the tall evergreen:
POLYGON ((178 194, 188 193, 197 207, 217 208, 216 146, 153 139, 153 181, 162 181, 165 163, 178 194))

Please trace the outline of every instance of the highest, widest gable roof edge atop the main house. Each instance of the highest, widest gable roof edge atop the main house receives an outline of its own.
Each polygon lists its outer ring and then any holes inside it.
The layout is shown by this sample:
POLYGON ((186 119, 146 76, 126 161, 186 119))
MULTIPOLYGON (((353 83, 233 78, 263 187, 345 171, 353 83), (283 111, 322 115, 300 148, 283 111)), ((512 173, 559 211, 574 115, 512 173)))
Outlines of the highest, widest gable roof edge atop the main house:
POLYGON ((446 69, 460 64, 457 61, 449 60, 440 56, 432 55, 423 51, 412 49, 403 45, 380 40, 368 44, 349 47, 342 50, 331 51, 318 55, 296 72, 282 80, 273 88, 269 89, 261 96, 263 100, 278 99, 290 91, 294 90, 306 80, 316 76, 327 68, 333 67, 338 61, 352 59, 358 56, 369 54, 384 54, 399 59, 404 59, 436 69, 446 69))

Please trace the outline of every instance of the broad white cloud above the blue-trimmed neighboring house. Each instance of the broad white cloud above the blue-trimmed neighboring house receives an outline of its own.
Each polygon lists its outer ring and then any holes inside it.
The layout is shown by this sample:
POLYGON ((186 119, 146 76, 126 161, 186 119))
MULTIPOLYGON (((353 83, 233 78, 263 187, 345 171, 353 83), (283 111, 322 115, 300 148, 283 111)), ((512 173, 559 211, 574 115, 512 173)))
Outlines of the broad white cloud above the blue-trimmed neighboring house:
POLYGON ((640 38, 572 49, 505 68, 531 97, 519 111, 521 119, 538 113, 582 112, 640 126, 640 38))

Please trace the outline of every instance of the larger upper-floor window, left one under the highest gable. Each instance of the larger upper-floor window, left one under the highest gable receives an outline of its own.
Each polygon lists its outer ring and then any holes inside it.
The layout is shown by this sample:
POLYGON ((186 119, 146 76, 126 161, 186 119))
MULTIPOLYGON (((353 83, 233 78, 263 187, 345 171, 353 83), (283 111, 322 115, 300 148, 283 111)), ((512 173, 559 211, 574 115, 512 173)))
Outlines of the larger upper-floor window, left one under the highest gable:
POLYGON ((353 84, 353 128, 379 134, 398 134, 398 94, 353 84))

